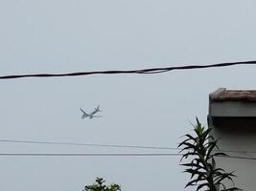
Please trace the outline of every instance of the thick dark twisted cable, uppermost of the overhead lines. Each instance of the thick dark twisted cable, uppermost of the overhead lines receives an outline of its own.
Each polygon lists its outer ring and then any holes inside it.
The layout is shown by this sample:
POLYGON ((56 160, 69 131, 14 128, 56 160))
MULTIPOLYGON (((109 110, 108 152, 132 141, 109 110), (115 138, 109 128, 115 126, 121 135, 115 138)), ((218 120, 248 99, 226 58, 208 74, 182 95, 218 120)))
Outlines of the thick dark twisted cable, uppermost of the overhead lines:
POLYGON ((220 68, 234 65, 255 65, 256 61, 241 61, 241 62, 224 62, 219 64, 208 65, 185 65, 176 67, 163 67, 163 68, 149 68, 139 70, 116 70, 116 71, 93 71, 93 72, 78 72, 78 73, 65 73, 65 74, 12 74, 2 75, 0 79, 13 79, 22 77, 59 77, 59 76, 80 76, 92 74, 158 74, 167 73, 175 70, 192 70, 192 69, 205 69, 205 68, 220 68))

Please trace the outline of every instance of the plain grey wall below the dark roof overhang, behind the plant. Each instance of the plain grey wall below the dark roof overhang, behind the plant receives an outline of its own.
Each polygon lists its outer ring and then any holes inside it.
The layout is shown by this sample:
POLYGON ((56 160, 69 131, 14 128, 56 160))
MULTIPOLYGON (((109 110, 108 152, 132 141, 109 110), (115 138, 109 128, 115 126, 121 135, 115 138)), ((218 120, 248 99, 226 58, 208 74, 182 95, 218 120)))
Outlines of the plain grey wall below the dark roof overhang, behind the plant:
MULTIPOLYGON (((213 135, 215 138, 221 138, 218 145, 227 155, 256 159, 255 134, 251 134, 250 132, 244 134, 239 132, 233 133, 215 128, 213 135), (244 151, 254 153, 245 153, 244 151)), ((217 158, 216 161, 217 165, 227 172, 236 171, 237 178, 234 179, 234 182, 237 187, 243 188, 245 191, 256 190, 256 160, 217 158)), ((232 185, 231 182, 228 182, 228 184, 232 185)))

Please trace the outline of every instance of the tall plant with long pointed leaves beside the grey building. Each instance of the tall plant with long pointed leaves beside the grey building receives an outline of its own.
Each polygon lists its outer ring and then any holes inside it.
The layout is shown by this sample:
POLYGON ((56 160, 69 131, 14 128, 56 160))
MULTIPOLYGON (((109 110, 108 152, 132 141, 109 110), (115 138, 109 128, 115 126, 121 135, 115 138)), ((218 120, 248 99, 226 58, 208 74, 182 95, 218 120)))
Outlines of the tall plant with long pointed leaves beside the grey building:
POLYGON ((224 180, 233 182, 232 178, 235 175, 234 172, 226 173, 222 168, 216 167, 215 157, 227 157, 227 155, 219 152, 218 140, 210 135, 211 129, 205 129, 198 118, 197 124, 193 126, 196 136, 187 134, 185 140, 178 145, 181 153, 184 153, 180 160, 191 159, 190 162, 181 164, 186 168, 184 172, 191 174, 190 181, 185 187, 197 186, 197 191, 241 191, 242 189, 238 187, 226 188, 223 183, 224 180))

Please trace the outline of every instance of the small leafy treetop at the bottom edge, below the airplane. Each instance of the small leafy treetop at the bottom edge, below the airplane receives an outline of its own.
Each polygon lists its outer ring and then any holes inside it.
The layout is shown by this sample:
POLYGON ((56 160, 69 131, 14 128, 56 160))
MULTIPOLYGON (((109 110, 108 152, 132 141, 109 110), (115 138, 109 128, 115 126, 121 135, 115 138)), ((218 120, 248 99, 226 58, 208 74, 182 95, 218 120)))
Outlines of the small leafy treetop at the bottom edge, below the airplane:
POLYGON ((105 185, 105 180, 103 178, 97 178, 95 183, 85 185, 84 190, 82 191, 121 191, 121 186, 115 183, 105 185))

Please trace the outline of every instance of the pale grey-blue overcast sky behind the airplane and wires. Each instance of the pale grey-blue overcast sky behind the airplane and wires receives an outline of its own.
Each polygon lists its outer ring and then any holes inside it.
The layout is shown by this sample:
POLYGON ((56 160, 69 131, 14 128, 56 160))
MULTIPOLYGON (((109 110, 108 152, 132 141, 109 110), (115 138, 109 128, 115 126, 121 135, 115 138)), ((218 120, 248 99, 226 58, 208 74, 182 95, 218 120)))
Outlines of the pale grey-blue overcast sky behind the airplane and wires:
MULTIPOLYGON (((0 75, 255 59, 255 1, 0 1, 0 75)), ((208 95, 256 89, 254 66, 1 80, 1 139, 176 147, 208 95), (103 117, 81 119, 101 105, 103 117)), ((0 142, 0 153, 176 153, 0 142)), ((179 157, 0 157, 0 190, 184 190, 179 157)), ((186 190, 193 190, 187 188, 186 190)))

